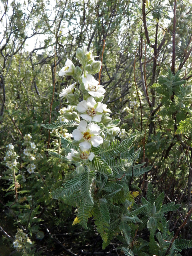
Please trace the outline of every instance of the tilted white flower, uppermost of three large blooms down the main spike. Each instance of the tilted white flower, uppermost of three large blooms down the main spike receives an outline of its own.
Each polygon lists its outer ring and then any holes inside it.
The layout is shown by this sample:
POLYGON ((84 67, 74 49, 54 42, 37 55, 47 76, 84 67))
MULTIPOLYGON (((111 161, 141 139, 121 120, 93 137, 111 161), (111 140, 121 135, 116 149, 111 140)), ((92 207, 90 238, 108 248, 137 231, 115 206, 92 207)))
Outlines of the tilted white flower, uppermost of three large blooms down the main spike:
POLYGON ((98 81, 91 74, 87 74, 86 77, 82 78, 85 89, 93 97, 100 97, 105 93, 105 89, 102 85, 98 85, 98 81))

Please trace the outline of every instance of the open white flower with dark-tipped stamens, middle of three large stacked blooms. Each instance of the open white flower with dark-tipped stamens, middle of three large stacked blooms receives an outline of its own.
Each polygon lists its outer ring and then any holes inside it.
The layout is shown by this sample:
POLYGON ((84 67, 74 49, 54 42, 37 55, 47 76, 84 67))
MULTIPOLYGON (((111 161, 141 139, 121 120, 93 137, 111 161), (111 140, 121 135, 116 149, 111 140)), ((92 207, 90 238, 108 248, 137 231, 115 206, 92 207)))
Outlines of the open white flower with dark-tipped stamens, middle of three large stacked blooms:
POLYGON ((96 103, 93 97, 89 97, 88 100, 82 100, 77 105, 77 110, 84 113, 80 115, 84 120, 101 122, 103 107, 106 109, 106 106, 101 102, 96 103))

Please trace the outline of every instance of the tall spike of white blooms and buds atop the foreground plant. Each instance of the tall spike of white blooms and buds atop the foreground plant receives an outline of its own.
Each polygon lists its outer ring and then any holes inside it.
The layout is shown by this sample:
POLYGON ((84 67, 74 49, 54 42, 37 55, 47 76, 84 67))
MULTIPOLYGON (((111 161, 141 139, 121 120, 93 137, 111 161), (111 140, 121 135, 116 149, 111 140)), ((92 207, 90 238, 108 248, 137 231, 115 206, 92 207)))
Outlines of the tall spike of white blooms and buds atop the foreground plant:
MULTIPOLYGON (((61 122, 75 120, 78 123, 78 127, 73 130, 72 136, 74 138, 73 143, 78 146, 79 150, 72 149, 68 153, 67 159, 87 165, 94 158, 92 147, 98 147, 101 144, 108 145, 120 129, 114 127, 111 134, 105 136, 99 125, 100 123, 107 125, 112 120, 109 114, 110 110, 106 104, 102 103, 105 94, 104 86, 100 85, 92 75, 99 72, 101 62, 95 61, 95 56, 92 55, 91 51, 88 52, 86 48, 83 48, 83 50, 78 48, 76 57, 82 64, 82 68, 75 67, 73 62, 67 59, 65 66, 58 73, 59 76, 73 76, 78 81, 78 83, 75 82, 64 88, 60 93, 60 97, 66 98, 68 101, 68 107, 60 109, 59 120, 61 122), (79 102, 80 92, 83 94, 83 99, 79 102)), ((64 137, 68 138, 69 136, 72 137, 71 134, 64 137)), ((82 165, 78 166, 76 171, 80 171, 81 167, 82 165)))

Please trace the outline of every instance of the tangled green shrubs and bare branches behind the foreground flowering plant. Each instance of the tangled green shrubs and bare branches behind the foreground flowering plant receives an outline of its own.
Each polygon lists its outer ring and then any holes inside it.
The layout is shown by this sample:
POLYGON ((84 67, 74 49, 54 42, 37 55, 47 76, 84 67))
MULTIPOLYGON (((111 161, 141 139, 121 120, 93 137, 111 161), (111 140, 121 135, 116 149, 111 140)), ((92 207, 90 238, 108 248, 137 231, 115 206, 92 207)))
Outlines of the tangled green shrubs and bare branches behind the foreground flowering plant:
MULTIPOLYGON (((18 228, 30 237, 32 255, 117 255, 115 240, 102 250, 92 222, 88 231, 72 226, 76 209, 50 196, 75 167, 48 155, 48 132, 41 126, 49 121, 54 80, 52 122, 64 106, 60 91, 73 82, 68 76, 54 77, 54 48, 58 72, 66 58, 78 64, 78 47, 94 48, 94 55, 101 56, 103 39, 104 103, 112 118, 121 119, 120 138, 136 135, 135 148, 142 148, 138 163, 153 166, 133 181, 141 190, 135 200, 140 204, 152 183, 156 196, 164 192, 164 203, 181 204, 166 214, 175 233, 192 207, 190 1, 1 0, 0 7, 2 255, 21 255, 13 247, 18 228), (16 152, 11 161, 18 156, 14 168, 4 159, 10 143, 16 152), (29 148, 35 160, 26 155, 29 148), (32 163, 36 168, 30 173, 32 163)), ((50 149, 59 150, 55 135, 50 149)), ((191 214, 180 238, 191 238, 190 219, 191 214)), ((147 240, 149 234, 141 236, 147 240)))

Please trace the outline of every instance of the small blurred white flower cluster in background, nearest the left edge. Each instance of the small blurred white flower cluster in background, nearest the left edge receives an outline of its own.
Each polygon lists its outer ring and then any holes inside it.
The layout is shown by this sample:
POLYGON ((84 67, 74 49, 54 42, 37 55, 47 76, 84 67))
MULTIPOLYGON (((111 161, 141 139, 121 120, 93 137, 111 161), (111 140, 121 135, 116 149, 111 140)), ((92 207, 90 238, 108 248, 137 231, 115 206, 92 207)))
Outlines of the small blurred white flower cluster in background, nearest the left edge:
POLYGON ((6 146, 6 148, 8 148, 4 156, 4 160, 6 161, 6 166, 10 169, 16 168, 18 166, 18 162, 17 162, 18 155, 14 151, 13 144, 10 143, 9 145, 6 146))

